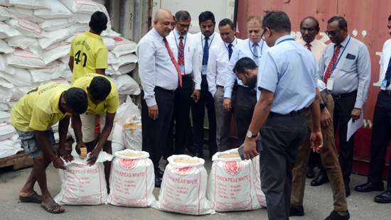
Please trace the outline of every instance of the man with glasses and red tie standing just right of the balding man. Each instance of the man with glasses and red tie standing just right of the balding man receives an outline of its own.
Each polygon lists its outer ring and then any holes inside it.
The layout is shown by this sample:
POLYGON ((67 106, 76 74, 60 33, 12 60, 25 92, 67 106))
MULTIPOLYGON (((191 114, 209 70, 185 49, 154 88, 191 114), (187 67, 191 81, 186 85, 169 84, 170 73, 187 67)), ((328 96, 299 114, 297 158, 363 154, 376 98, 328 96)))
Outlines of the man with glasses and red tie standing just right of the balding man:
MULTIPOLYGON (((170 48, 175 56, 182 75, 182 87, 175 91, 173 121, 175 120, 175 150, 168 143, 165 156, 172 153, 185 153, 186 141, 191 138, 190 106, 192 95, 195 101, 200 99, 201 73, 200 50, 195 44, 195 38, 188 33, 191 16, 188 11, 178 11, 175 14, 175 29, 167 36, 170 48)), ((170 138, 171 139, 171 138, 170 138)))

